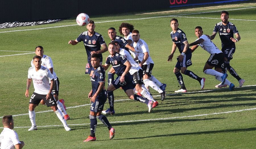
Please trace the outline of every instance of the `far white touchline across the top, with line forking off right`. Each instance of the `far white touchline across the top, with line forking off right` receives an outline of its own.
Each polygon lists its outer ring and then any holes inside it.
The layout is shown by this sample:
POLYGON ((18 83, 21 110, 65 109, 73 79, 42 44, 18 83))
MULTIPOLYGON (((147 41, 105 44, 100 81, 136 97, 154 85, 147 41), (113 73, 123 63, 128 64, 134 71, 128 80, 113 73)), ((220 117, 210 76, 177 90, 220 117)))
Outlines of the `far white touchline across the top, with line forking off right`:
MULTIPOLYGON (((232 10, 242 10, 242 9, 251 9, 256 7, 247 7, 247 8, 238 8, 238 9, 230 9, 226 11, 232 11, 232 10)), ((169 15, 169 16, 157 16, 157 17, 148 17, 148 18, 137 18, 137 19, 123 19, 123 20, 112 20, 112 21, 103 21, 103 22, 95 22, 95 23, 106 23, 106 22, 117 22, 117 21, 129 21, 129 20, 142 20, 142 19, 151 19, 151 18, 163 18, 163 17, 182 17, 182 15, 191 15, 191 14, 203 14, 203 13, 211 13, 211 12, 220 12, 220 11, 209 11, 209 12, 198 12, 198 13, 190 13, 190 14, 177 14, 177 15, 169 15)), ((188 17, 189 18, 189 17, 188 17)), ((191 17, 193 18, 193 17, 191 17)), ((200 17, 195 17, 200 18, 200 17)), ((201 17, 204 18, 204 17, 201 17)), ((220 18, 208 18, 208 19, 220 19, 220 18)), ((242 20, 242 19, 229 19, 229 20, 242 20)), ((256 21, 256 20, 242 20, 242 21, 256 21)), ((54 27, 43 27, 43 28, 36 28, 36 29, 23 29, 23 30, 14 30, 14 31, 32 31, 32 30, 38 30, 38 29, 49 29, 49 28, 57 28, 57 27, 67 27, 67 26, 75 26, 77 24, 73 25, 62 25, 62 26, 54 26, 54 27)), ((14 31, 2 31, 0 33, 7 33, 7 32, 14 32, 14 31)))

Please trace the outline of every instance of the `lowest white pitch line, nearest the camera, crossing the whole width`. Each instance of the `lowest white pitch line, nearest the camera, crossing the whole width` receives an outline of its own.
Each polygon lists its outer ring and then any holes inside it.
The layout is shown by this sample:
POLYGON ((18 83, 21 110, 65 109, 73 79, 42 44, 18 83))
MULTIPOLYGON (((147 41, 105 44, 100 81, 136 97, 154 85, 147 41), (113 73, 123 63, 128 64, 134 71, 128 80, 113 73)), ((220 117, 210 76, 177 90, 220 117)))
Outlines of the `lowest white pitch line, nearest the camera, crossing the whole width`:
MULTIPOLYGON (((189 116, 177 116, 177 117, 169 117, 169 118, 155 118, 155 119, 145 119, 145 120, 129 120, 129 121, 115 121, 110 122, 113 123, 127 123, 127 122, 145 122, 145 121, 152 121, 152 120, 170 120, 170 119, 177 119, 177 118, 191 118, 191 117, 198 117, 198 116, 208 116, 208 115, 217 115, 217 114, 227 114, 227 113, 234 113, 234 112, 242 112, 242 111, 250 111, 250 110, 256 110, 255 108, 249 108, 249 109, 242 109, 242 110, 235 110, 235 111, 227 111, 227 112, 218 112, 218 113, 210 113, 210 114, 198 114, 198 115, 189 115, 189 116)), ((90 125, 90 123, 85 124, 69 124, 69 126, 75 126, 75 125, 90 125)), ((63 125, 46 125, 46 126, 37 126, 37 127, 57 127, 63 125)), ((14 127, 14 128, 30 128, 31 126, 24 126, 24 127, 14 127)), ((0 127, 3 129, 3 127, 0 127)))

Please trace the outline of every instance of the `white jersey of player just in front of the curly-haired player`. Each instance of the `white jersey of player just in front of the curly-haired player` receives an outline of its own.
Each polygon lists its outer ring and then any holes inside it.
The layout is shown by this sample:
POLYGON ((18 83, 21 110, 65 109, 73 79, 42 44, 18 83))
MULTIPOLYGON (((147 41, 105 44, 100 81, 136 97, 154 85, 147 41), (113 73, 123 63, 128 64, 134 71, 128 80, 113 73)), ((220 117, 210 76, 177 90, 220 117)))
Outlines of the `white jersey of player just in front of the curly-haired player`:
POLYGON ((152 64, 154 63, 149 55, 148 45, 146 44, 146 42, 144 40, 139 39, 139 41, 137 43, 134 42, 133 47, 134 47, 140 61, 142 61, 142 59, 144 58, 144 53, 148 52, 148 59, 145 61, 145 63, 143 65, 147 65, 149 63, 152 63, 152 64))

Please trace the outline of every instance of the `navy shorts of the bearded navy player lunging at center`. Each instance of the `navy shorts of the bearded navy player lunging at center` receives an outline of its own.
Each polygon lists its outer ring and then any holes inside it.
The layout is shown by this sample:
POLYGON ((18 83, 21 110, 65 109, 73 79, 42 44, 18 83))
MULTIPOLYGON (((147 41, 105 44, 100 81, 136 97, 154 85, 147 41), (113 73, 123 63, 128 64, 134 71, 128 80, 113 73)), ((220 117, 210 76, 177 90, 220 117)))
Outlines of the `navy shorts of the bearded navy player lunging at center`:
POLYGON ((117 78, 112 82, 113 86, 118 89, 120 87, 123 88, 124 91, 129 90, 134 88, 134 83, 133 83, 133 76, 130 74, 125 75, 125 81, 120 82, 121 76, 117 76, 117 78))

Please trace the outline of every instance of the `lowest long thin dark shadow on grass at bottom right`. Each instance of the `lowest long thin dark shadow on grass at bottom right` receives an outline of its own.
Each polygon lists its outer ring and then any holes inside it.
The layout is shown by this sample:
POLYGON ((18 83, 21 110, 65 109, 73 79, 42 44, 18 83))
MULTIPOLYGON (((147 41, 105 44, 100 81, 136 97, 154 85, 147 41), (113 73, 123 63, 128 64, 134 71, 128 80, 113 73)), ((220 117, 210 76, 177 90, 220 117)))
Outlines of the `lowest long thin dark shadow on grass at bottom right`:
POLYGON ((226 129, 226 130, 215 130, 215 131, 200 131, 200 132, 190 132, 190 133, 174 133, 174 134, 164 134, 164 135, 154 135, 147 137, 132 137, 132 138, 123 138, 123 139, 114 139, 114 140, 126 140, 126 139, 144 139, 144 138, 156 138, 156 137, 172 137, 172 136, 183 136, 183 135, 206 135, 206 134, 215 134, 215 133, 237 133, 237 132, 246 132, 246 131, 255 131, 256 127, 252 128, 241 128, 241 129, 226 129))

